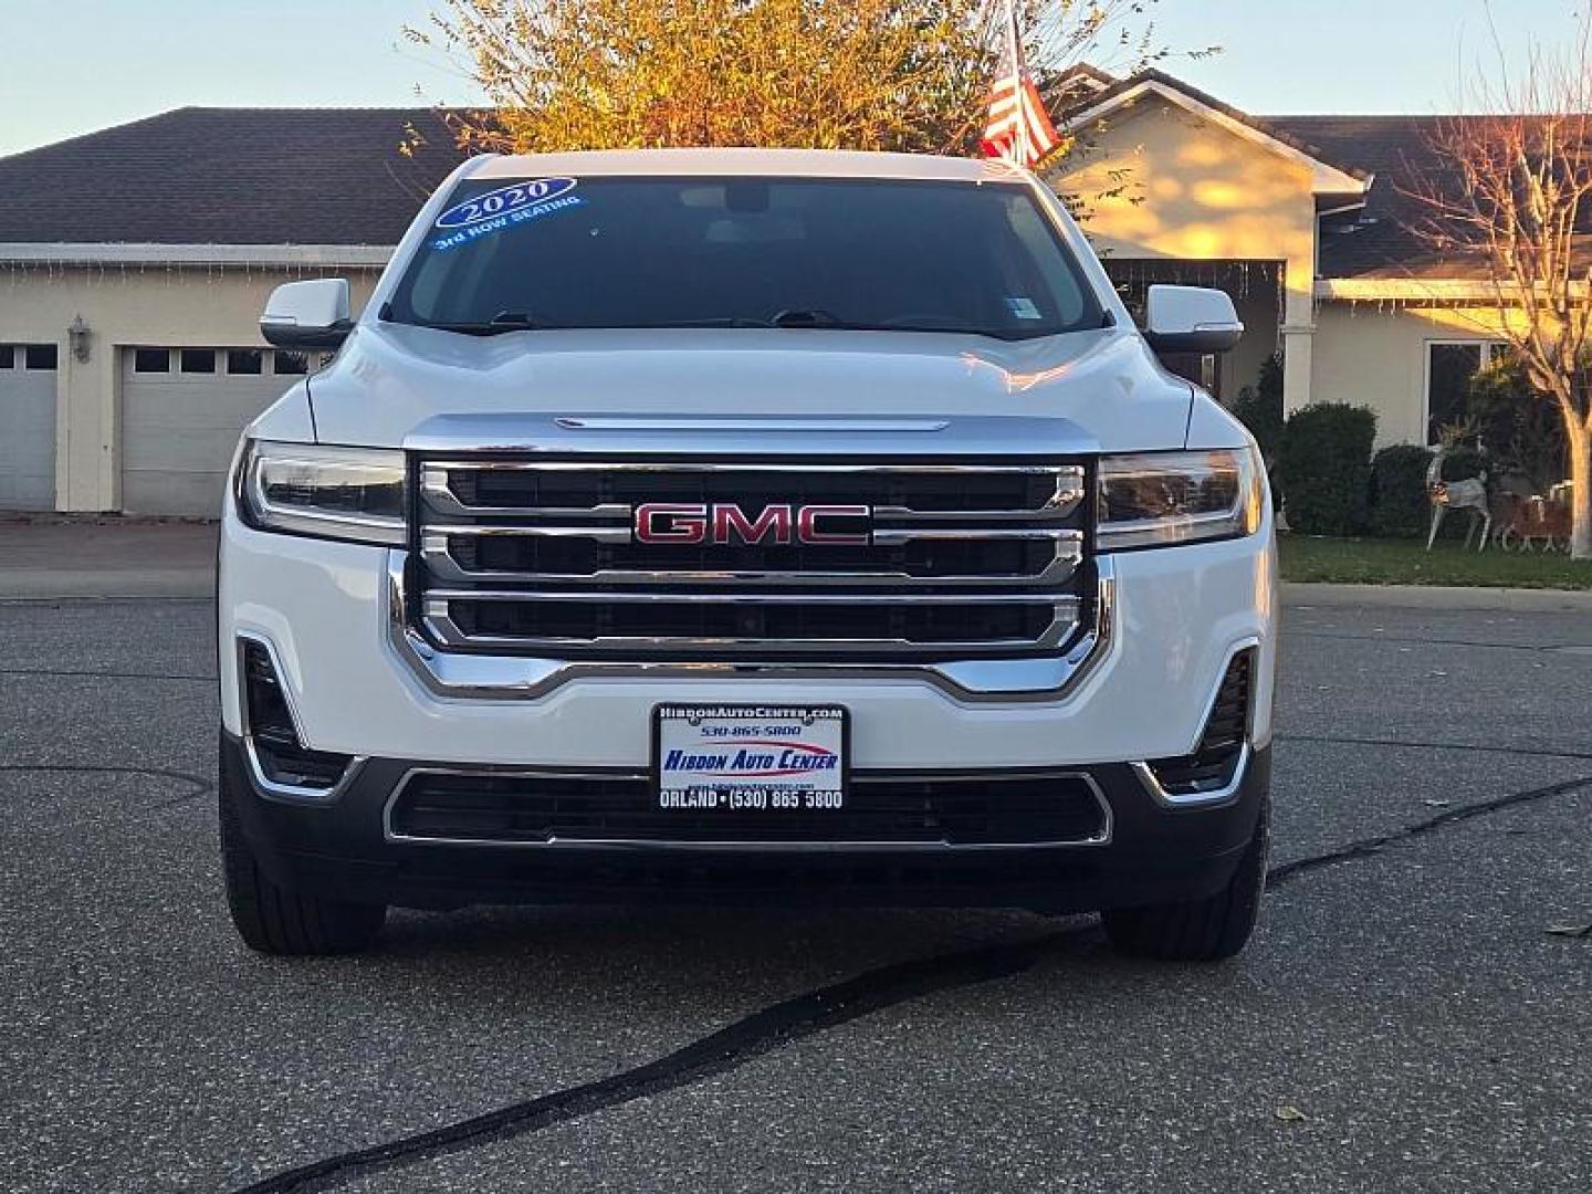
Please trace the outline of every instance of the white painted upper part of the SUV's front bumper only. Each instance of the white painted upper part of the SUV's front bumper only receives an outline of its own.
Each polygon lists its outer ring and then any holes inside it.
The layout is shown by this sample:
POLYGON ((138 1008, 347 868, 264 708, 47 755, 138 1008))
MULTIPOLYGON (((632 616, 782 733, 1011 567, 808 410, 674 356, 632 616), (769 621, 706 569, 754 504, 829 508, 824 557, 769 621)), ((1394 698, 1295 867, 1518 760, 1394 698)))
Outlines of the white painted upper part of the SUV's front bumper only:
MULTIPOLYGON (((973 694, 923 669, 576 665, 549 685, 546 661, 443 654, 433 673, 395 635, 396 556, 255 532, 228 513, 218 600, 228 731, 242 732, 231 645, 252 635, 280 664, 304 745, 341 755, 643 769, 653 707, 694 702, 844 704, 853 724, 850 763, 864 771, 1175 758, 1197 743, 1223 672, 1245 648, 1258 651, 1253 742, 1270 742, 1277 607, 1269 525, 1245 540, 1113 557, 1110 642, 1065 688, 1028 693, 973 694), (521 669, 525 677, 514 680, 521 669), (457 683, 439 685, 438 677, 457 683)), ((1043 669, 1048 661, 1028 662, 1043 669)))

